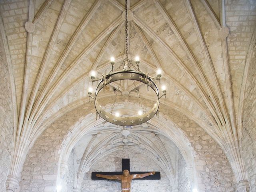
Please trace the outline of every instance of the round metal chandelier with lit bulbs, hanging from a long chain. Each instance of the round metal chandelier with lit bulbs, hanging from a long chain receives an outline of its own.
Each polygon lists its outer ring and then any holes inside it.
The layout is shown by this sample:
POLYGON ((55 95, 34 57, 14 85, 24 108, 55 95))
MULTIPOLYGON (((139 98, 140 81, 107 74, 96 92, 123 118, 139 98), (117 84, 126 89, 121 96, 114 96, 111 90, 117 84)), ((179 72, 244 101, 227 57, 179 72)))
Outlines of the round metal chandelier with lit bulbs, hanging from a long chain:
POLYGON ((120 66, 116 68, 115 71, 114 71, 114 64, 115 64, 114 58, 111 58, 110 64, 112 69, 108 74, 102 74, 102 78, 96 78, 96 72, 94 71, 90 73, 92 84, 93 82, 96 82, 96 81, 99 81, 99 83, 96 86, 95 97, 92 96, 92 88, 89 88, 89 91, 88 91, 89 102, 90 102, 90 98, 94 99, 94 105, 95 105, 97 116, 99 115, 101 118, 103 118, 107 122, 110 122, 116 125, 121 125, 121 126, 133 126, 133 125, 138 125, 138 124, 147 122, 152 117, 154 117, 155 114, 158 117, 158 113, 159 113, 158 108, 160 104, 159 100, 163 96, 166 99, 166 88, 163 86, 162 95, 160 96, 159 89, 156 86, 156 84, 153 82, 153 79, 158 80, 159 84, 161 84, 161 76, 162 76, 161 70, 157 70, 156 77, 149 76, 149 74, 142 72, 142 70, 139 68, 140 61, 138 56, 135 58, 135 60, 136 60, 135 62, 136 66, 128 58, 128 19, 127 19, 127 0, 126 0, 125 1, 125 58, 120 64, 120 66), (113 110, 116 105, 116 99, 117 99, 118 93, 120 92, 119 88, 121 86, 122 80, 132 80, 134 89, 138 96, 139 106, 142 109, 139 111, 138 115, 120 116, 119 114, 118 115, 113 114, 113 110), (118 88, 115 90, 115 98, 111 106, 111 109, 109 109, 110 112, 107 112, 99 104, 97 100, 97 96, 102 89, 103 89, 103 92, 105 92, 105 86, 107 86, 108 84, 111 84, 112 82, 119 82, 119 84, 118 84, 118 88), (156 102, 151 109, 147 110, 146 107, 142 104, 141 97, 140 97, 141 93, 139 92, 139 89, 136 86, 135 82, 142 82, 146 84, 147 91, 150 88, 153 90, 154 94, 156 95, 156 102))

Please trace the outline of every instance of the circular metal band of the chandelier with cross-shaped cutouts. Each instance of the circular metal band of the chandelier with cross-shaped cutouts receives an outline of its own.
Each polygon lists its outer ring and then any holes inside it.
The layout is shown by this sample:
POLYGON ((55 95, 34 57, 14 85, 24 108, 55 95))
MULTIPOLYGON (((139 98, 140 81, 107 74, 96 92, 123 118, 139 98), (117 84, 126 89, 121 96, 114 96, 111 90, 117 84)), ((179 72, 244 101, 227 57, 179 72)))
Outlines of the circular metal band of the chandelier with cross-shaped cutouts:
POLYGON ((95 90, 94 105, 100 117, 102 117, 107 122, 110 122, 116 125, 121 125, 121 126, 133 126, 133 125, 138 125, 138 124, 147 122, 152 117, 154 117, 154 115, 158 112, 159 99, 160 97, 159 97, 158 88, 149 76, 146 76, 142 72, 138 72, 134 70, 125 70, 125 71, 122 70, 122 71, 112 72, 104 76, 104 78, 102 78, 102 80, 100 81, 100 83, 98 84, 95 90), (102 88, 104 89, 104 86, 119 80, 135 80, 135 81, 139 81, 144 84, 147 84, 148 87, 152 88, 157 96, 157 101, 154 104, 153 108, 151 108, 145 114, 142 114, 140 116, 134 116, 134 117, 118 117, 103 110, 103 108, 100 106, 97 100, 98 93, 100 92, 100 90, 102 90, 102 88))

